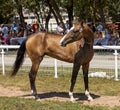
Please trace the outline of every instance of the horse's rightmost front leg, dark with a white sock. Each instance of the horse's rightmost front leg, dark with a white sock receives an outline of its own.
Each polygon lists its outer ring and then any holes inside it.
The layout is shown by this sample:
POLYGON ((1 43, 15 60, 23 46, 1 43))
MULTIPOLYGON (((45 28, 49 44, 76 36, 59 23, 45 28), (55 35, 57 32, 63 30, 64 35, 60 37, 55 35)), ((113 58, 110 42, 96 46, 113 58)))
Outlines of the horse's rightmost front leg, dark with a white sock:
POLYGON ((83 77, 84 77, 84 84, 85 84, 85 95, 87 96, 89 101, 93 101, 93 98, 91 97, 89 93, 89 87, 88 87, 88 70, 89 70, 89 64, 82 65, 83 69, 83 77))

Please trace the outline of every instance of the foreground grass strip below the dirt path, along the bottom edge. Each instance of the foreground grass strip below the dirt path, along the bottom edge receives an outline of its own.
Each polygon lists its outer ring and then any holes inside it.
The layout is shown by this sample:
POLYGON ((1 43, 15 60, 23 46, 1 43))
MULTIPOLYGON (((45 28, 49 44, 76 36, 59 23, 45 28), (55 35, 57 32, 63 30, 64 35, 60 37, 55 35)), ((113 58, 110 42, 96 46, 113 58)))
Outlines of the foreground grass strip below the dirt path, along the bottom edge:
MULTIPOLYGON (((80 103, 0 97, 0 110, 109 110, 107 107, 83 106, 80 103)), ((119 110, 114 108, 114 110, 119 110)))

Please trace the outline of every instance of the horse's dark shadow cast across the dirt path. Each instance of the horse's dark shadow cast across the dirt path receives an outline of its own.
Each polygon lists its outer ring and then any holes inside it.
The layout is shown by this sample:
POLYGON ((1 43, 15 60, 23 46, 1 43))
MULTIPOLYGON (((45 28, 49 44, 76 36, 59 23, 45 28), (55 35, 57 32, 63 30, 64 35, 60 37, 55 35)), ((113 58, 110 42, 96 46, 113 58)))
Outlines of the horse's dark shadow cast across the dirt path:
MULTIPOLYGON (((95 94, 90 94, 90 95, 92 96, 93 99, 100 97, 99 95, 95 95, 95 94)), ((29 97, 29 96, 32 96, 32 94, 26 94, 23 95, 22 97, 29 97)), ((38 94, 38 96, 40 97, 40 99, 50 99, 54 97, 69 99, 69 94, 67 92, 45 92, 38 94)), ((87 97, 85 96, 84 93, 74 93, 74 98, 76 98, 77 101, 87 100, 87 97)))

